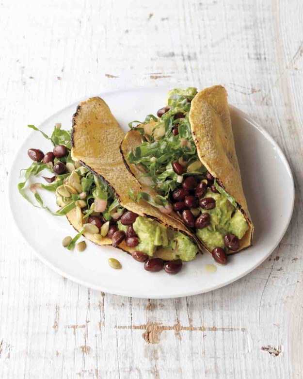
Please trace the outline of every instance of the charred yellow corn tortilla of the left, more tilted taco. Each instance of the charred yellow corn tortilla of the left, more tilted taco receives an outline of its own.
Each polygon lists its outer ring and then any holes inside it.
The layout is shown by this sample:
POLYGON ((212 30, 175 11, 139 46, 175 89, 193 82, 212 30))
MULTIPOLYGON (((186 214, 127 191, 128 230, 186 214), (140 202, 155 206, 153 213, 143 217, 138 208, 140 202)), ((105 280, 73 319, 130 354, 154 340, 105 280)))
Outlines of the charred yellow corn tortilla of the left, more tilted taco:
MULTIPOLYGON (((128 172, 122 156, 119 154, 119 146, 123 137, 124 132, 104 100, 95 97, 80 103, 73 116, 73 159, 79 161, 81 165, 106 182, 120 204, 126 209, 152 218, 166 228, 191 237, 200 247, 197 237, 180 220, 161 213, 158 208, 145 201, 134 202, 128 197, 129 187, 134 196, 142 191, 142 187, 128 172)), ((70 221, 73 226, 76 225, 77 229, 74 214, 70 215, 70 221)), ((119 245, 119 248, 128 252, 136 250, 136 248, 127 247, 124 243, 119 245)), ((169 252, 167 249, 158 249, 155 256, 168 260, 172 259, 173 252, 169 252)))

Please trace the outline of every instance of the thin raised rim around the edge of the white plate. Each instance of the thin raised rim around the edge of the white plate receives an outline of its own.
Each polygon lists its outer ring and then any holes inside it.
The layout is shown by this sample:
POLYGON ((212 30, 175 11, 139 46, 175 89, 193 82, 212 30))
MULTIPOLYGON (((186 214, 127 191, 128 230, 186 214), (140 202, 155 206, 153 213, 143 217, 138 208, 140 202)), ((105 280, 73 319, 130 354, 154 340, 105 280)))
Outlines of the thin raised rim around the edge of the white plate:
MULTIPOLYGON (((53 118, 54 116, 56 116, 57 114, 59 114, 61 112, 64 112, 65 109, 67 109, 67 108, 69 108, 71 106, 77 105, 80 101, 82 101, 84 99, 88 99, 88 98, 96 97, 96 96, 104 96, 104 95, 114 94, 116 92, 128 92, 128 91, 151 90, 151 89, 157 90, 157 89, 167 89, 167 88, 168 88, 168 86, 157 86, 157 87, 152 87, 152 86, 137 86, 137 87, 127 87, 127 88, 123 88, 123 89, 116 88, 116 89, 113 89, 113 90, 99 92, 98 94, 95 94, 95 95, 81 97, 80 99, 77 99, 77 100, 69 103, 68 105, 64 106, 63 108, 61 108, 61 109, 57 110, 56 112, 54 112, 53 114, 49 115, 46 119, 44 119, 43 121, 41 121, 39 123, 38 128, 41 126, 41 124, 48 123, 48 121, 51 118, 53 118)), ((15 217, 15 214, 14 214, 14 212, 12 210, 12 205, 11 205, 12 201, 13 201, 13 199, 12 199, 12 192, 9 190, 10 189, 10 183, 13 180, 13 178, 12 178, 12 176, 13 176, 12 167, 16 164, 16 161, 17 161, 17 154, 16 154, 15 157, 14 157, 14 159, 13 159, 13 161, 12 161, 12 163, 11 163, 11 165, 10 165, 6 193, 7 193, 7 200, 8 200, 9 208, 10 208, 9 214, 13 218, 14 224, 16 226, 16 229, 18 230, 19 234, 22 236, 23 241, 27 244, 27 246, 29 246, 32 249, 32 252, 34 253, 34 255, 40 261, 42 261, 44 264, 46 264, 49 268, 51 268, 57 274, 62 275, 64 278, 72 280, 73 282, 75 282, 77 284, 80 284, 80 285, 83 285, 83 286, 85 286, 87 288, 91 288, 91 289, 94 289, 94 290, 97 290, 97 291, 101 291, 101 292, 105 292, 105 293, 112 294, 112 295, 134 297, 134 298, 151 298, 151 299, 188 297, 188 296, 194 296, 194 295, 199 295, 199 294, 211 292, 211 291, 214 291, 214 290, 219 289, 219 288, 223 288, 223 287, 225 287, 225 286, 233 283, 234 281, 237 281, 237 280, 243 278, 244 276, 246 276, 247 274, 249 274, 250 272, 252 272, 253 270, 255 270, 255 268, 258 267, 260 264, 262 264, 271 255, 271 253, 275 250, 275 248, 279 245, 279 243, 281 242, 282 238, 284 237, 284 235, 285 235, 285 233, 286 233, 286 231, 288 229, 289 223, 291 221, 292 214, 293 214, 294 202, 295 202, 295 186, 294 186, 294 178, 293 178, 293 174, 292 174, 292 171, 291 171, 291 167, 290 167, 290 165, 289 165, 289 163, 287 161, 287 158, 286 158, 286 156, 285 156, 282 148, 280 148, 280 146, 273 139, 273 137, 271 136, 271 134, 269 132, 267 132, 261 125, 259 125, 250 115, 246 114, 245 112, 243 112, 242 110, 240 110, 239 108, 237 108, 236 106, 234 106, 232 104, 228 104, 228 106, 237 115, 239 115, 241 118, 243 118, 244 120, 246 120, 247 122, 249 122, 255 129, 257 129, 259 132, 261 132, 264 135, 264 137, 266 139, 268 139, 271 142, 271 144, 277 149, 279 157, 282 159, 282 161, 283 161, 284 165, 286 166, 286 169, 287 169, 287 171, 289 173, 289 177, 291 179, 291 187, 292 187, 292 191, 291 191, 291 207, 290 207, 290 212, 289 212, 288 220, 287 220, 285 228, 281 232, 281 235, 280 235, 279 239, 277 240, 276 244, 269 249, 269 252, 264 257, 262 257, 262 259, 259 262, 257 262, 253 266, 249 267, 247 270, 245 270, 244 272, 242 272, 238 276, 236 276, 236 277, 234 277, 234 278, 232 278, 230 280, 225 281, 223 284, 214 284, 213 286, 208 287, 206 290, 203 290, 203 289, 202 290, 195 290, 195 291, 188 290, 186 293, 183 292, 181 294, 179 293, 179 294, 174 294, 174 295, 164 295, 164 296, 159 297, 159 296, 150 296, 150 295, 146 295, 146 296, 143 296, 143 295, 129 295, 129 291, 128 290, 124 291, 121 288, 119 290, 114 290, 113 291, 112 289, 109 289, 106 286, 102 286, 102 288, 101 288, 98 285, 94 285, 94 284, 92 285, 92 284, 90 284, 86 280, 81 280, 81 279, 78 279, 77 277, 74 277, 73 275, 67 274, 66 272, 64 272, 64 270, 61 270, 59 267, 57 267, 54 264, 50 263, 46 258, 43 257, 43 255, 41 255, 41 253, 39 253, 34 247, 32 247, 32 245, 27 241, 24 233, 18 228, 16 217, 15 217)), ((17 151, 19 151, 19 149, 23 146, 23 144, 24 144, 24 142, 22 141, 17 146, 17 151)), ((289 195, 289 193, 288 193, 288 195, 289 195)))

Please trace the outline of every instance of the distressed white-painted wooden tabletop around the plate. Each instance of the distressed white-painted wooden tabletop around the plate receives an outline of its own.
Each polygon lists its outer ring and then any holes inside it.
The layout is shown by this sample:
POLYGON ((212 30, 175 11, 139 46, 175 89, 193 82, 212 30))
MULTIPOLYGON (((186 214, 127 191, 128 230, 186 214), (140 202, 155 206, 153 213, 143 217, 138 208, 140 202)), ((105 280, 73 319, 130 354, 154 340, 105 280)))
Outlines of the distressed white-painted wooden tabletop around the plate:
POLYGON ((0 378, 302 378, 302 19, 300 0, 0 2, 2 198, 27 123, 141 85, 224 85, 284 150, 296 182, 292 221, 268 260, 222 289, 168 300, 107 295, 52 272, 4 200, 0 378))

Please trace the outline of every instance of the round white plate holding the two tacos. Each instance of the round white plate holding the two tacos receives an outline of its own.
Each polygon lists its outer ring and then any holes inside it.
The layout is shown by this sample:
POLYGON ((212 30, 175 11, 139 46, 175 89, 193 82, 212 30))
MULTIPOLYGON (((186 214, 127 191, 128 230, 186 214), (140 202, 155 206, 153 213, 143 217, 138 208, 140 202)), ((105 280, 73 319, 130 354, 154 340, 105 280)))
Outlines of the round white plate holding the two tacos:
MULTIPOLYGON (((137 88, 100 94, 110 106, 120 125, 128 130, 128 122, 144 120, 163 105, 168 89, 137 88)), ((39 127, 51 133, 56 122, 64 129, 71 128, 77 103, 49 117, 39 127)), ((149 273, 143 264, 113 247, 97 247, 88 242, 80 253, 68 251, 61 245, 66 235, 75 235, 65 217, 54 217, 47 211, 34 208, 17 191, 21 168, 31 164, 28 148, 51 149, 39 132, 31 132, 16 154, 9 178, 9 200, 18 229, 44 263, 66 278, 85 286, 117 295, 165 298, 200 294, 237 280, 262 263, 278 245, 287 230, 294 204, 294 184, 287 160, 271 136, 248 115, 230 107, 237 154, 244 192, 255 224, 254 246, 229 259, 226 266, 217 266, 209 274, 206 264, 213 264, 204 254, 183 265, 182 271, 170 276, 163 271, 149 273), (123 269, 112 269, 107 260, 119 259, 123 269)), ((31 120, 29 120, 30 122, 31 120)), ((118 154, 118 152, 117 152, 118 154)), ((40 191, 46 203, 56 209, 54 196, 40 191)))

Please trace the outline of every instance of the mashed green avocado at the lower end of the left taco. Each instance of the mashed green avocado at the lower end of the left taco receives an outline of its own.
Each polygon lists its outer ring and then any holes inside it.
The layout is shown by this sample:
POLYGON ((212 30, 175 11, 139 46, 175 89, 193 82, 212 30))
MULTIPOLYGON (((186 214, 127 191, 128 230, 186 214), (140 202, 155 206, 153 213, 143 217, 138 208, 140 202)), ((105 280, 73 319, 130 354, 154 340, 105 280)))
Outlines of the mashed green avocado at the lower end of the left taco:
POLYGON ((198 248, 188 236, 171 231, 155 220, 138 216, 132 226, 140 240, 137 249, 149 256, 153 256, 160 246, 172 248, 175 259, 182 261, 191 261, 197 254, 198 248))

